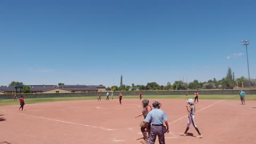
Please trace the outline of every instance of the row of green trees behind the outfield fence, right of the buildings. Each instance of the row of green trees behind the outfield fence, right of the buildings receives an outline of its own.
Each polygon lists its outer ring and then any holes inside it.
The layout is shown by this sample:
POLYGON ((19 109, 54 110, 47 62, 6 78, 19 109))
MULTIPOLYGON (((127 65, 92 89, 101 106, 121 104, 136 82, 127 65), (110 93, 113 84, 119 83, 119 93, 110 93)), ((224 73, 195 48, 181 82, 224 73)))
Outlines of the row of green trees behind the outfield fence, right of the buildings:
MULTIPOLYGON (((250 79, 251 85, 256 85, 256 79, 250 79)), ((198 90, 198 89, 234 89, 234 87, 247 87, 249 86, 249 79, 245 77, 240 77, 235 79, 235 74, 232 72, 231 68, 228 68, 227 76, 223 77, 221 80, 217 81, 216 78, 210 79, 207 82, 198 82, 194 80, 190 83, 185 83, 182 81, 175 81, 173 85, 170 82, 167 85, 159 85, 156 82, 147 83, 147 85, 124 85, 123 76, 121 75, 120 86, 107 87, 107 91, 129 91, 129 90, 198 90)))

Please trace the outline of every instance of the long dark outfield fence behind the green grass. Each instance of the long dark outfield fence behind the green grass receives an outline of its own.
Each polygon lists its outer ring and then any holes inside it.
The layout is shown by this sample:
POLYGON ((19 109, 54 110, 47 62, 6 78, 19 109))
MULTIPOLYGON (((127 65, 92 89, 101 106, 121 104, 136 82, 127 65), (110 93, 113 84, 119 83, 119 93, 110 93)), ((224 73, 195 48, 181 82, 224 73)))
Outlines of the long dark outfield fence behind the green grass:
MULTIPOLYGON (((238 94, 240 90, 200 90, 199 95, 204 94, 238 94)), ((141 91, 142 95, 185 95, 186 91, 141 91)), ((256 94, 256 90, 244 90, 246 94, 256 94)), ((64 98, 64 97, 97 97, 99 92, 85 93, 22 93, 17 94, 19 98, 23 95, 26 99, 30 98, 64 98)), ((107 92, 100 92, 101 96, 106 96, 107 92)), ((122 92, 125 95, 139 95, 140 91, 122 92)), ((188 90, 188 95, 194 95, 195 91, 188 90)), ((109 92, 110 97, 111 92, 109 92)), ((119 95, 119 92, 114 92, 114 96, 119 95)), ((13 99, 14 94, 0 94, 0 99, 13 99)))

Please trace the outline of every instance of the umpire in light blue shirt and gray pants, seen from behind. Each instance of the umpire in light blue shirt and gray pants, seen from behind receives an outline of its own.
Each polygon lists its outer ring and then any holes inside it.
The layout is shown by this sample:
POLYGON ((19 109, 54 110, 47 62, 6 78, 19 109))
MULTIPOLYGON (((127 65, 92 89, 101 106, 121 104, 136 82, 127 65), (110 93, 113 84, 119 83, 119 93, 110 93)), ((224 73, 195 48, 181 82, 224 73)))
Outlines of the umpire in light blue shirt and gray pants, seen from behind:
POLYGON ((154 144, 157 135, 159 144, 165 144, 164 133, 169 132, 169 124, 167 122, 168 117, 166 116, 164 111, 160 109, 161 103, 155 101, 152 106, 154 107, 154 109, 151 110, 145 118, 145 121, 147 122, 147 130, 149 123, 152 124, 148 143, 154 144), (166 127, 163 125, 164 122, 166 127))

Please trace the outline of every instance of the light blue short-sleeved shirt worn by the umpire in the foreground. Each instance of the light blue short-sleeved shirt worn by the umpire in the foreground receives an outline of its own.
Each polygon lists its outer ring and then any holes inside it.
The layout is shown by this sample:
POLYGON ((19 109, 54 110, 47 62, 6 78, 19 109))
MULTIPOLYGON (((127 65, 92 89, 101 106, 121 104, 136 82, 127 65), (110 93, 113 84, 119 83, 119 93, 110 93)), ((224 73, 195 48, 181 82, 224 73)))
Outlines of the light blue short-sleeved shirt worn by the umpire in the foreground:
POLYGON ((166 116, 164 111, 158 108, 154 108, 153 110, 151 110, 148 113, 147 117, 145 118, 145 122, 147 123, 151 122, 151 124, 155 124, 155 125, 163 124, 164 121, 167 121, 167 120, 168 120, 168 117, 166 116))

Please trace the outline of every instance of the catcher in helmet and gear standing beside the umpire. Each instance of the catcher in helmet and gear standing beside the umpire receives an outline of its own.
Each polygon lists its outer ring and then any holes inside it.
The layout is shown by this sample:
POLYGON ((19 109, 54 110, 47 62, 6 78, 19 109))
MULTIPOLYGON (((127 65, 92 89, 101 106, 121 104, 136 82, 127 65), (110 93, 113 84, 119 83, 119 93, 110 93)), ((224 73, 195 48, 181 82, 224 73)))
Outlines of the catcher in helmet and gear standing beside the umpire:
MULTIPOLYGON (((142 102, 141 102, 141 105, 142 105, 142 107, 143 107, 142 113, 140 113, 138 116, 135 116, 135 118, 137 118, 137 117, 139 117, 139 116, 142 116, 142 115, 144 116, 144 119, 146 118, 146 116, 148 115, 149 111, 152 110, 151 106, 149 106, 148 103, 149 103, 149 100, 147 100, 147 99, 142 100, 142 102)), ((143 134, 143 139, 144 139, 145 141, 148 140, 147 131, 146 131, 146 124, 147 124, 147 123, 146 123, 145 121, 142 121, 142 122, 140 123, 140 127, 141 127, 140 130, 141 130, 141 132, 142 132, 142 134, 143 134)), ((150 129, 151 129, 151 127, 150 127, 150 124, 149 124, 149 126, 148 126, 148 132, 150 132, 150 129)))

